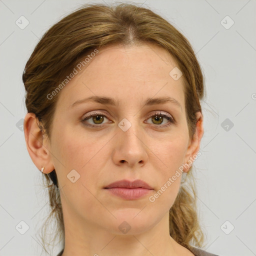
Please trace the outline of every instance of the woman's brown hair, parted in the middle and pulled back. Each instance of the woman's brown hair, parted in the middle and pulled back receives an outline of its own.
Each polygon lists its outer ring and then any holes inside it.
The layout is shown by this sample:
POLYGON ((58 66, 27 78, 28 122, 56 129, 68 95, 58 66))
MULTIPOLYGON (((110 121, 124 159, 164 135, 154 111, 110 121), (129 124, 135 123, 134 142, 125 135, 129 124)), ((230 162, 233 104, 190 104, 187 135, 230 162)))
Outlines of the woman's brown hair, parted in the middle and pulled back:
MULTIPOLYGON (((111 44, 138 45, 153 43, 165 49, 178 63, 182 71, 185 94, 185 114, 189 137, 197 122, 196 112, 201 112, 204 81, 194 51, 184 35, 173 25, 148 8, 134 3, 118 5, 86 4, 63 17, 44 33, 29 57, 22 80, 25 86, 25 104, 28 112, 35 114, 39 127, 50 140, 52 119, 59 93, 52 98, 47 95, 57 86, 76 64, 95 48, 111 44)), ((67 85, 68 86, 68 85, 67 85)), ((196 190, 191 169, 190 180, 181 185, 169 210, 169 233, 179 244, 191 249, 202 247, 204 234, 199 225, 196 208, 196 190)), ((55 169, 43 174, 48 190, 50 214, 43 225, 56 223, 55 240, 64 235, 62 207, 55 169)), ((45 245, 42 238, 43 247, 45 245)), ((49 243, 48 243, 49 244, 49 243)))

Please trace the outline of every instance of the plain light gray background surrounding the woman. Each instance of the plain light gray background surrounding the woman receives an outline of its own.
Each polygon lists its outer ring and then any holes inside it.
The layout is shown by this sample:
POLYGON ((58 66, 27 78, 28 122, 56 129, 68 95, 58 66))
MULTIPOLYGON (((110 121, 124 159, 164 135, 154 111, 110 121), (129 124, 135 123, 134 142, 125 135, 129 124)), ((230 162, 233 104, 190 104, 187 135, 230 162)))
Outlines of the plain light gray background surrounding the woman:
MULTIPOLYGON (((42 34, 86 2, 0 0, 0 255, 39 255, 35 233, 48 214, 42 174, 30 159, 20 126, 26 113, 24 65, 42 34), (21 15, 29 21, 24 29, 15 24, 21 15), (23 235, 15 229, 21 220, 29 226, 23 235)), ((256 1, 146 0, 142 5, 187 37, 205 76, 205 131, 194 166, 206 250, 256 255, 256 1), (230 19, 221 22, 226 15, 234 21, 231 27, 230 19)), ((53 255, 60 249, 55 247, 53 255)))

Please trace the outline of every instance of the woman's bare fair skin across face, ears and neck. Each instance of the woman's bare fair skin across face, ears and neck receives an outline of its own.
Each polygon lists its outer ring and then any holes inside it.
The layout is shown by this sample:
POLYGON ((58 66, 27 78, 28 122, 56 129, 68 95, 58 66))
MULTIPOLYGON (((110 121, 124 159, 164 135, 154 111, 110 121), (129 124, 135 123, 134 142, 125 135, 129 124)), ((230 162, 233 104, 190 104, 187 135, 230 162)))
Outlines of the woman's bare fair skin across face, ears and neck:
MULTIPOLYGON (((55 169, 61 188, 63 256, 193 255, 169 235, 168 211, 181 175, 154 202, 148 199, 196 154, 203 134, 200 120, 193 138, 188 136, 183 77, 174 80, 169 75, 175 66, 175 60, 156 45, 107 46, 59 92, 50 140, 43 139, 34 114, 26 114, 30 157, 38 169, 44 166, 44 173, 55 169), (113 97, 119 105, 70 106, 94 95, 113 97), (181 107, 170 102, 143 106, 147 98, 160 96, 175 98, 181 107), (95 110, 106 115, 102 121, 82 121, 95 110), (176 123, 165 117, 161 123, 153 118, 154 111, 172 116, 176 123), (126 131, 118 126, 123 118, 131 123, 126 131), (74 183, 67 178, 72 169, 80 175, 74 183), (126 200, 104 189, 121 179, 142 179, 153 190, 126 200), (125 234, 118 228, 123 221, 131 227, 125 234)), ((200 112, 197 117, 202 117, 200 112)))

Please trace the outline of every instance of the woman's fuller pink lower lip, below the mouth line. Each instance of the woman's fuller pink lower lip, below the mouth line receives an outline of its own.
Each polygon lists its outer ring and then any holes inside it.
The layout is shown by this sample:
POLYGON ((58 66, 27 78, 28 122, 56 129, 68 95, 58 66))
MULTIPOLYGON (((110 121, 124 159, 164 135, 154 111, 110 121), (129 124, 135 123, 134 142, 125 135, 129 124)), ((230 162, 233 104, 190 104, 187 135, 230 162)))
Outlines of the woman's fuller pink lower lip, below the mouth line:
POLYGON ((112 187, 112 188, 105 188, 109 192, 122 197, 124 199, 133 200, 137 199, 141 196, 148 194, 153 189, 147 189, 142 187, 137 188, 125 188, 125 187, 112 187))

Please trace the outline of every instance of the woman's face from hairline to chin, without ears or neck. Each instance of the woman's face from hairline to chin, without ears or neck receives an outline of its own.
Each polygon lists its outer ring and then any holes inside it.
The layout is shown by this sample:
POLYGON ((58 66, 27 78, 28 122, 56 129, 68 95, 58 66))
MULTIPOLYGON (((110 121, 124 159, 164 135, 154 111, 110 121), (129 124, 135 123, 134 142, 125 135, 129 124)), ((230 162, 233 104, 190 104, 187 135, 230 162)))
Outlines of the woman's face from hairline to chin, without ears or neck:
POLYGON ((66 221, 115 233, 126 221, 129 232, 136 233, 168 214, 181 175, 167 188, 166 182, 197 146, 188 136, 183 77, 169 74, 176 66, 164 49, 152 44, 112 45, 100 49, 58 92, 47 148, 66 221), (100 103, 88 97, 111 100, 100 103), (159 103, 158 97, 171 100, 159 103), (135 198, 126 194, 129 188, 106 188, 123 179, 143 180, 152 189, 140 188, 145 191, 140 194, 134 188, 135 198), (153 200, 164 184, 165 191, 153 200))

